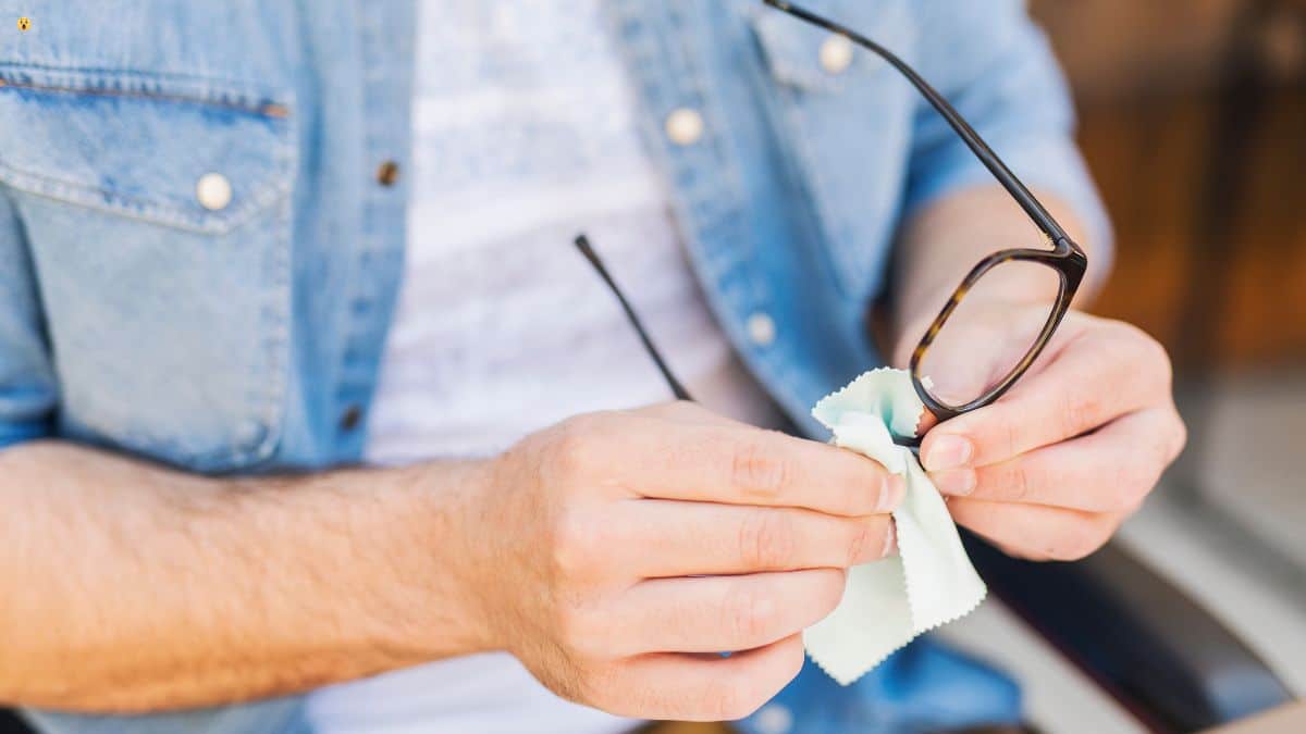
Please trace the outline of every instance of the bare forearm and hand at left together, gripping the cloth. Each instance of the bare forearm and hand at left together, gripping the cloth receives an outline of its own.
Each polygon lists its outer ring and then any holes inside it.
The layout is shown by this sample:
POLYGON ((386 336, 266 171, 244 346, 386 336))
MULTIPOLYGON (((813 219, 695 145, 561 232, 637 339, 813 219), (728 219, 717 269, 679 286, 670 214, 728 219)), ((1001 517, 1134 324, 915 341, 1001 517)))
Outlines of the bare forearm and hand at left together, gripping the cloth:
POLYGON ((303 477, 13 447, 0 701, 193 709, 507 649, 614 713, 739 717, 798 671, 901 496, 871 460, 691 405, 303 477))

